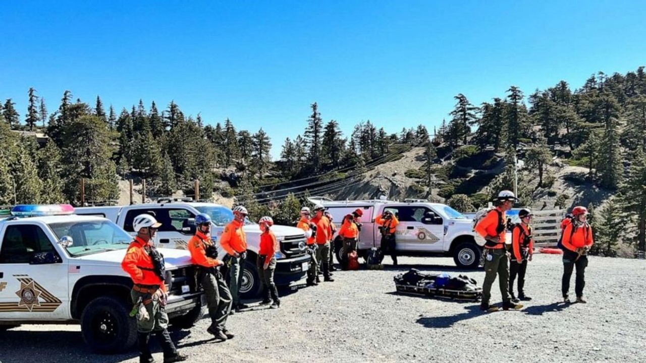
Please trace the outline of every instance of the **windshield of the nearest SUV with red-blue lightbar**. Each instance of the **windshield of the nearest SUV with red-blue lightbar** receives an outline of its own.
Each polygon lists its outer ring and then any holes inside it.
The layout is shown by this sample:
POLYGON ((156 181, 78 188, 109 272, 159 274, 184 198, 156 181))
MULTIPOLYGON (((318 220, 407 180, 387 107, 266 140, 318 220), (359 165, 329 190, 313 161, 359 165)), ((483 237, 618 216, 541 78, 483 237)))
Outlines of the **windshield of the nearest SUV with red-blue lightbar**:
POLYGON ((60 240, 72 238, 72 245, 65 247, 71 256, 126 249, 132 236, 109 220, 51 223, 52 232, 60 240))

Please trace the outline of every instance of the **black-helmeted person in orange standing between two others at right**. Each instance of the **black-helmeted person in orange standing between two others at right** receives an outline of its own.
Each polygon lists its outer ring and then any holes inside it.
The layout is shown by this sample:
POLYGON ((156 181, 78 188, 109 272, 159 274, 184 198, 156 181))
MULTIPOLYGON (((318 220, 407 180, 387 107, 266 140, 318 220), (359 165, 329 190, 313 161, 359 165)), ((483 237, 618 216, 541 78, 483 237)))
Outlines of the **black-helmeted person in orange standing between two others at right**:
POLYGON ((521 222, 514 225, 512 229, 512 256, 509 264, 509 295, 512 301, 532 300, 525 295, 525 273, 527 262, 534 256, 534 238, 532 238, 532 227, 529 223, 532 220, 532 212, 529 209, 521 209, 518 218, 521 222), (514 280, 518 276, 518 297, 514 295, 514 280))

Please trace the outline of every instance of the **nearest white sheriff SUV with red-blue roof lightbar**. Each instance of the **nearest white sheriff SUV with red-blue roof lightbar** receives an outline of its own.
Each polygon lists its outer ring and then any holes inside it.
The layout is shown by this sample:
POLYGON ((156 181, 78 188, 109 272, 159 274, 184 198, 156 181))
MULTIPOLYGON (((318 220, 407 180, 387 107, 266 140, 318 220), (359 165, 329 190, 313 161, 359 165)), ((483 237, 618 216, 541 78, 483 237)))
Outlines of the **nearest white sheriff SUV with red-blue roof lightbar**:
MULTIPOLYGON (((71 205, 16 205, 13 216, 0 221, 0 331, 19 324, 81 324, 92 350, 129 349, 137 329, 129 317, 132 280, 121 260, 132 236, 105 218, 73 213, 71 205)), ((171 324, 190 327, 205 306, 191 255, 160 252, 171 324)))

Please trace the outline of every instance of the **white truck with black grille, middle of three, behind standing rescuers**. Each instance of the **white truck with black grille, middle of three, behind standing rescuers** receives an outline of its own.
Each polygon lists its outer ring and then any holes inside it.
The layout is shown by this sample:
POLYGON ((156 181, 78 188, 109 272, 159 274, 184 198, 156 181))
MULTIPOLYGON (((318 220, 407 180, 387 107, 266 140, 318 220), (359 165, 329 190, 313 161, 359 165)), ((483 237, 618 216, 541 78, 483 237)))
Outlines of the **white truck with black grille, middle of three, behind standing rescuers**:
MULTIPOLYGON (((141 213, 148 213, 162 223, 158 231, 160 247, 186 249, 187 242, 195 233, 194 218, 198 213, 211 216, 213 226, 211 234, 218 247, 218 256, 224 258, 225 251, 220 247, 220 236, 225 225, 233 220, 231 209, 214 203, 191 202, 189 199, 171 200, 163 198, 158 203, 134 204, 118 207, 83 207, 76 208, 76 214, 101 216, 112 220, 126 232, 135 234, 132 220, 141 213)), ((247 264, 242 272, 242 297, 260 295, 262 283, 256 269, 256 256, 260 248, 260 228, 256 223, 247 220, 243 227, 247 234, 247 264)), ((306 238, 302 229, 286 225, 274 225, 271 230, 280 242, 280 251, 276 252, 277 285, 289 285, 304 278, 309 266, 309 254, 306 253, 306 238)))

